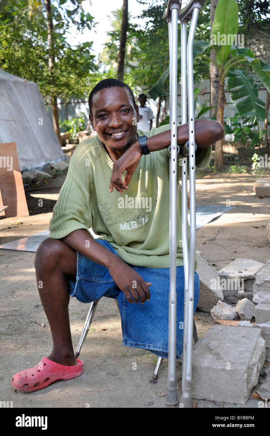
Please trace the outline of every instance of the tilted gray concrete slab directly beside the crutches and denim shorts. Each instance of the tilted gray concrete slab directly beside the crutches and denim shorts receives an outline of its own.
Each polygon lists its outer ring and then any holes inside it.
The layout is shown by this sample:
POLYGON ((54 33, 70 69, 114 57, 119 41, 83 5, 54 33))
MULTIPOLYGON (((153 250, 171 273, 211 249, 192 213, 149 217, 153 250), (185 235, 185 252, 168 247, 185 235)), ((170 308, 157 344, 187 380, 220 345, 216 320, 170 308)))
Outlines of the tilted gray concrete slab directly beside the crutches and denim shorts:
POLYGON ((223 293, 222 290, 217 289, 218 275, 216 269, 203 259, 199 252, 196 252, 196 254, 197 273, 200 277, 200 295, 197 307, 203 312, 210 312, 219 300, 223 300, 223 293))

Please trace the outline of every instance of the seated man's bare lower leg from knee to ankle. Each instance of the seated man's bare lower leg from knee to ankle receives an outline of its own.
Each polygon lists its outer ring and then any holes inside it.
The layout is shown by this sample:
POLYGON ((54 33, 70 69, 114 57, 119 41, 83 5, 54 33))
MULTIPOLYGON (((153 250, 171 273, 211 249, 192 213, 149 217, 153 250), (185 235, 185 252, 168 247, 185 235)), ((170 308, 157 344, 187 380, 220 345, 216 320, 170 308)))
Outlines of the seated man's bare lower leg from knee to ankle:
POLYGON ((65 242, 48 238, 37 249, 35 268, 40 300, 53 337, 53 351, 47 357, 62 365, 76 365, 68 305, 69 279, 76 282, 77 253, 65 242))

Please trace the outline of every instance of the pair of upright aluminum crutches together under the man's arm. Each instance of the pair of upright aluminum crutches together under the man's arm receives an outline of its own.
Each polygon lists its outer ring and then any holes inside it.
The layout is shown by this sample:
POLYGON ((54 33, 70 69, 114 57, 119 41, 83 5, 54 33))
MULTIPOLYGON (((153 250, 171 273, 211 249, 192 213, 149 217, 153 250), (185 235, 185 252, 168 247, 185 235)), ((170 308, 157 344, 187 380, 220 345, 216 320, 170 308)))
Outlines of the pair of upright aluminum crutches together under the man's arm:
MULTIPOLYGON (((181 27, 181 78, 182 78, 182 118, 181 123, 187 122, 187 74, 189 101, 189 164, 190 164, 190 255, 188 255, 187 238, 187 159, 182 167, 182 245, 185 272, 185 310, 183 332, 183 374, 184 390, 181 402, 184 407, 191 407, 190 381, 192 364, 192 336, 193 336, 193 299, 194 299, 194 268, 196 249, 196 200, 195 200, 195 130, 194 130, 194 102, 193 102, 193 40, 199 10, 205 0, 191 0, 180 10, 180 1, 171 0, 163 18, 169 27, 170 48, 170 294, 169 294, 169 363, 168 363, 168 392, 167 405, 177 405, 176 380, 176 251, 177 251, 177 25, 178 17, 184 22, 181 27), (187 46, 187 22, 192 18, 189 41, 187 46), (188 51, 188 58, 187 58, 188 51), (188 72, 187 72, 188 70, 188 72), (192 198, 191 198, 192 197, 192 198), (191 210, 192 209, 192 210, 191 210), (190 268, 189 268, 190 266, 190 268), (187 309, 187 310, 186 310, 187 309), (191 339, 191 343, 190 343, 191 339)), ((182 147, 183 154, 187 151, 182 147)))

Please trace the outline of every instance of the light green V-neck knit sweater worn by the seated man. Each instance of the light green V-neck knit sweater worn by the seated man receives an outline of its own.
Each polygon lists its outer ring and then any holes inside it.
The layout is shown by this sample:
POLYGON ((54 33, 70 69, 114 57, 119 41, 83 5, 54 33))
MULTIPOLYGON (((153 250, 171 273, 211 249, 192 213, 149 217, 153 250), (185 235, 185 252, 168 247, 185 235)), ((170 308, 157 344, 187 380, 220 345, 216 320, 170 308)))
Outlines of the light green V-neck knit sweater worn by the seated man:
MULTIPOLYGON (((162 133, 169 125, 138 135, 162 133)), ((211 146, 198 148, 196 168, 205 169, 211 146)), ((123 261, 148 268, 169 267, 169 166, 167 148, 142 155, 128 190, 109 191, 113 161, 98 136, 77 146, 70 160, 67 178, 53 208, 50 238, 60 239, 92 227, 96 235, 110 242, 123 261)), ((178 165, 178 179, 181 166, 178 165)), ((126 174, 124 171, 123 175, 126 174)), ((181 240, 181 189, 178 190, 177 241, 181 240)), ((177 249, 177 266, 183 266, 182 248, 177 249)))

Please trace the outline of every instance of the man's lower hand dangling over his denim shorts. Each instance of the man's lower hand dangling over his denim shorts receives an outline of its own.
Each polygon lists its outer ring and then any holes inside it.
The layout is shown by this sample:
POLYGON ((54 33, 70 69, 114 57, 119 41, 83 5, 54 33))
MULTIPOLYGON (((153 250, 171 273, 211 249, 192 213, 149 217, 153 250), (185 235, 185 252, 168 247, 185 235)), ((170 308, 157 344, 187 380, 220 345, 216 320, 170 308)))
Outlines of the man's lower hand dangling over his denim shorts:
POLYGON ((133 268, 121 262, 109 269, 109 272, 114 283, 123 291, 129 303, 133 303, 134 300, 135 303, 140 301, 141 304, 144 304, 145 301, 150 300, 148 286, 151 286, 152 283, 145 282, 133 268), (133 300, 130 294, 133 296, 133 300))

